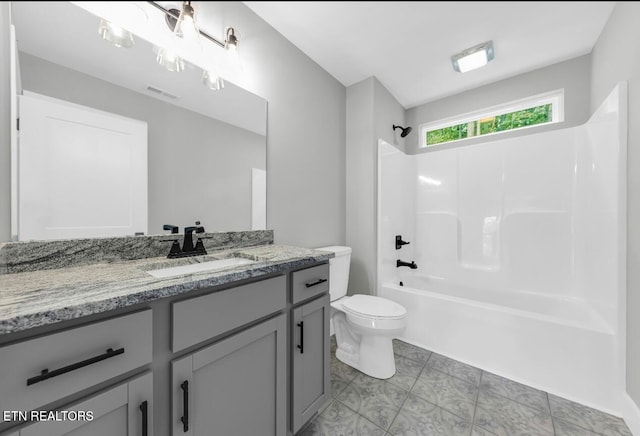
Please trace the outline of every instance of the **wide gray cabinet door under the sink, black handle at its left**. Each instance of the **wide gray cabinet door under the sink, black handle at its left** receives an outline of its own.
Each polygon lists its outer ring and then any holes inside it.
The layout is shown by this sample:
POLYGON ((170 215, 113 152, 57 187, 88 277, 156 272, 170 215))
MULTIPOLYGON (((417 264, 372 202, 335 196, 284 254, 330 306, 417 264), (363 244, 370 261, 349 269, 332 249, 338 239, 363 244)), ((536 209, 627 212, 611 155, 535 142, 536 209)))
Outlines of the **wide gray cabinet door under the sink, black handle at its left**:
POLYGON ((286 315, 172 362, 174 436, 286 432, 286 315))

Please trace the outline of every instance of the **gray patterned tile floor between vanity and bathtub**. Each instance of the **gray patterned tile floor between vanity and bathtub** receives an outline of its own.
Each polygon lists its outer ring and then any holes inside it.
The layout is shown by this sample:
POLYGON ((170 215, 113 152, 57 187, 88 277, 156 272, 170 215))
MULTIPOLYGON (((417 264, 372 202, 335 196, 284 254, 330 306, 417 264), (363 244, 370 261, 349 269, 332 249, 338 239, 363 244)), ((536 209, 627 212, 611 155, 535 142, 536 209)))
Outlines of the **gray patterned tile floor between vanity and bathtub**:
POLYGON ((331 349, 331 399, 298 436, 632 436, 620 418, 395 340, 397 373, 331 349))

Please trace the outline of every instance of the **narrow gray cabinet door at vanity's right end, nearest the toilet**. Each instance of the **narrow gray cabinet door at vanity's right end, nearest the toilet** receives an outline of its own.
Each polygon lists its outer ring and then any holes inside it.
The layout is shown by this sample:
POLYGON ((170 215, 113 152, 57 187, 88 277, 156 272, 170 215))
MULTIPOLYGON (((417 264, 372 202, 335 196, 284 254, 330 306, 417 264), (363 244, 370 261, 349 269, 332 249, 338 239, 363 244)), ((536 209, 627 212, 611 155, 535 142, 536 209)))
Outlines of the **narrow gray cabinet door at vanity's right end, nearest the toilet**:
POLYGON ((293 310, 292 430, 297 432, 330 396, 329 295, 293 310))

